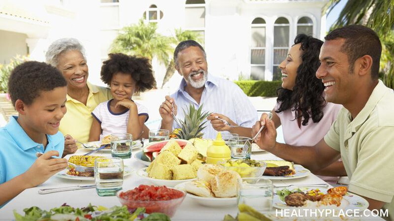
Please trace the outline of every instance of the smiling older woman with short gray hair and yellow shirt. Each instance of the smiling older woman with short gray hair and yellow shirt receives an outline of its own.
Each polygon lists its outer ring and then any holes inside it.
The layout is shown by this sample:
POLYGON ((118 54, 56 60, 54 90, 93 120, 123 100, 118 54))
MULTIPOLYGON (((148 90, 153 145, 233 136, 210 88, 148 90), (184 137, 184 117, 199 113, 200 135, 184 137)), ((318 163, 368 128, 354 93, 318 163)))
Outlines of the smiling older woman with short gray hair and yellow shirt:
POLYGON ((89 69, 85 49, 75 38, 54 41, 45 55, 46 62, 57 68, 67 80, 67 113, 59 130, 65 136, 66 154, 77 150, 76 140, 88 142, 96 106, 112 98, 108 88, 88 82, 89 69))

